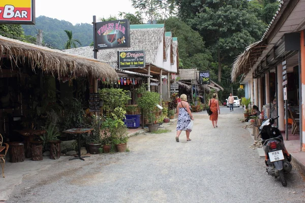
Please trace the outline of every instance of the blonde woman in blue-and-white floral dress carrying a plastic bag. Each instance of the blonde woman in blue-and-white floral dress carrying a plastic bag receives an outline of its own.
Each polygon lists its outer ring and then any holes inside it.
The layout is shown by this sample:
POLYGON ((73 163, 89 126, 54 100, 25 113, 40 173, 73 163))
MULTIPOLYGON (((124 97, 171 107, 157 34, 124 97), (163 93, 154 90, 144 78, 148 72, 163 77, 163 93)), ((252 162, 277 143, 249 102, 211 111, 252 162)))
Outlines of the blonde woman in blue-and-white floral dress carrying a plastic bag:
POLYGON ((177 105, 177 114, 178 114, 178 122, 177 122, 177 135, 176 142, 179 142, 179 136, 182 130, 186 131, 187 141, 191 141, 190 139, 190 131, 187 130, 187 126, 191 122, 191 119, 194 120, 194 117, 190 110, 190 105, 187 103, 187 95, 181 94, 181 101, 177 105))

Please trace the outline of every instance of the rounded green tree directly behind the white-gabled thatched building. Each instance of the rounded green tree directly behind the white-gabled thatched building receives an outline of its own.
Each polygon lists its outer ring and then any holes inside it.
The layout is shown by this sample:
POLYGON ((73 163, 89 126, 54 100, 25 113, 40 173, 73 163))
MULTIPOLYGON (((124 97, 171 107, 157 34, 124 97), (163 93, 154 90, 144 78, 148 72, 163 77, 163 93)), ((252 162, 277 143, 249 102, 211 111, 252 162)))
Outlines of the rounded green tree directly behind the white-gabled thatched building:
POLYGON ((184 68, 209 70, 211 53, 205 48, 199 32, 178 18, 168 18, 164 23, 166 31, 171 31, 172 36, 178 38, 179 58, 183 61, 184 68))

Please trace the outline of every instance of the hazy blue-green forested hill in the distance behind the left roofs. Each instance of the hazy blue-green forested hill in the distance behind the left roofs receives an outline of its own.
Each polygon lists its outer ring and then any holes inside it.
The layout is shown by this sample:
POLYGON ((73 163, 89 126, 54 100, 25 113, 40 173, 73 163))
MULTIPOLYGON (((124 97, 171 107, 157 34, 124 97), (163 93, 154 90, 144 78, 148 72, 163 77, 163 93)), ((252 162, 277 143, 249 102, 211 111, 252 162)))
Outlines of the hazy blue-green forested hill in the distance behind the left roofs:
POLYGON ((22 25, 26 36, 36 36, 38 29, 43 30, 43 44, 55 49, 64 49, 68 40, 64 30, 72 30, 73 38, 81 42, 81 46, 89 46, 93 42, 93 26, 88 23, 73 25, 65 20, 46 16, 36 18, 36 25, 22 25))

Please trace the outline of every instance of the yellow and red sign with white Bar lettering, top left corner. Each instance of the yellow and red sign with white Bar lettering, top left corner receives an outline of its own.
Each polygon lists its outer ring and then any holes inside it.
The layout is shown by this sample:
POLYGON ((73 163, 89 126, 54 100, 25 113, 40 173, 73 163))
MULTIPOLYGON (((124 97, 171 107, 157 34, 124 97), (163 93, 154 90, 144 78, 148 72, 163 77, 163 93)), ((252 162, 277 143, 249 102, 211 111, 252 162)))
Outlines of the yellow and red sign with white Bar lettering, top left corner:
POLYGON ((0 0, 0 24, 35 24, 35 0, 0 0))

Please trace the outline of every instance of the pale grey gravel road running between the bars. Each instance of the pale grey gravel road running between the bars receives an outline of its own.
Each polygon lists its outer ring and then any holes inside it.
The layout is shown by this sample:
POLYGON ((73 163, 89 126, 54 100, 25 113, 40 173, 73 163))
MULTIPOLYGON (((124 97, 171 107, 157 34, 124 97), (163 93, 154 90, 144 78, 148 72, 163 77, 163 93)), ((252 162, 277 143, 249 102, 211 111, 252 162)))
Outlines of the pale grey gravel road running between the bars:
POLYGON ((264 159, 239 121, 242 109, 221 108, 218 128, 194 113, 186 142, 171 132, 130 138, 130 152, 53 164, 26 176, 7 202, 305 202, 304 179, 293 168, 288 186, 265 172, 264 159))

